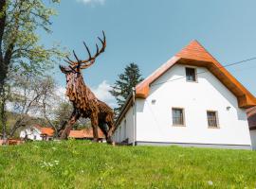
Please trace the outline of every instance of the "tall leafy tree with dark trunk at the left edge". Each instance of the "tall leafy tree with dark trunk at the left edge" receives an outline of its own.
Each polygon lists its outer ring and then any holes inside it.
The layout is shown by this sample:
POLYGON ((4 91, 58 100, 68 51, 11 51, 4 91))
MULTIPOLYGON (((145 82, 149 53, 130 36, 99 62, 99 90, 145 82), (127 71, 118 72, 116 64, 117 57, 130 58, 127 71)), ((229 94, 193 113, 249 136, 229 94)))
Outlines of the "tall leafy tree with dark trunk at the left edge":
POLYGON ((55 11, 47 8, 43 0, 0 1, 0 127, 4 136, 10 76, 20 69, 30 75, 43 75, 62 56, 58 46, 46 48, 36 35, 40 28, 50 32, 52 15, 55 11))

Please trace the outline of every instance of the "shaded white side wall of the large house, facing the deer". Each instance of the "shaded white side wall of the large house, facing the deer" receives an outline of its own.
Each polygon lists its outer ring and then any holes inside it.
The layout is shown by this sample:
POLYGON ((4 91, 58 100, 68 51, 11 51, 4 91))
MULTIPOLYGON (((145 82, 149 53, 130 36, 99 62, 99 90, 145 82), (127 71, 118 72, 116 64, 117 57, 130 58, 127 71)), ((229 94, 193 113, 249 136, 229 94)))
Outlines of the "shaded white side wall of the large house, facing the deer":
POLYGON ((118 129, 115 130, 113 135, 113 140, 116 143, 120 143, 128 139, 128 144, 133 143, 134 140, 134 116, 133 116, 133 107, 130 107, 128 112, 121 120, 118 129), (126 124, 125 124, 126 122, 126 124))

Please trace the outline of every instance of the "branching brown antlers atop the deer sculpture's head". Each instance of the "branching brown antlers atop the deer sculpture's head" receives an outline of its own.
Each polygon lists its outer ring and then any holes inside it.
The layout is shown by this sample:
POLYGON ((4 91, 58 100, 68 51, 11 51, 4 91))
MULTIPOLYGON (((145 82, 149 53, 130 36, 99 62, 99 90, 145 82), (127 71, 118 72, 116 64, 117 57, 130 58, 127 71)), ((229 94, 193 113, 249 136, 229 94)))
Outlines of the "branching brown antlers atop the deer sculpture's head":
POLYGON ((69 57, 67 56, 66 59, 67 60, 64 60, 66 61, 67 63, 69 63, 73 68, 75 67, 79 67, 81 69, 85 69, 85 68, 88 68, 89 66, 91 66, 94 61, 96 60, 96 58, 102 53, 104 52, 105 50, 105 47, 106 47, 106 37, 105 37, 105 33, 104 31, 102 31, 103 33, 103 40, 101 40, 100 37, 98 37, 98 39, 101 41, 101 50, 99 50, 99 46, 98 44, 96 43, 96 54, 92 57, 91 56, 91 53, 90 53, 90 50, 88 48, 88 46, 86 45, 86 43, 83 42, 83 45, 85 46, 86 50, 87 50, 87 53, 89 55, 89 58, 87 60, 79 60, 78 56, 76 55, 75 51, 73 51, 73 54, 74 54, 74 57, 77 61, 74 61, 74 60, 70 60, 69 57))

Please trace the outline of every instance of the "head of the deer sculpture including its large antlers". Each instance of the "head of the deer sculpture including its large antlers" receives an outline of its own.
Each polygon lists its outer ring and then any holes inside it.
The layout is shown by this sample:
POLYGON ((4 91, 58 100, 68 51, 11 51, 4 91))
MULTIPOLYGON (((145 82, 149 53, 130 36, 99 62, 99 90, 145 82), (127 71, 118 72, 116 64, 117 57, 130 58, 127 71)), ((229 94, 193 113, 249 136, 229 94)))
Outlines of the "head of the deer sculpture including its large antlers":
POLYGON ((103 39, 98 37, 98 39, 101 41, 101 44, 102 44, 101 49, 99 49, 99 46, 96 43, 97 49, 96 49, 96 53, 94 56, 91 56, 88 46, 86 45, 86 43, 83 42, 85 49, 87 50, 87 53, 89 55, 89 58, 87 60, 80 60, 78 58, 78 56, 76 55, 75 51, 73 50, 73 54, 74 54, 74 57, 76 60, 70 60, 69 57, 67 56, 66 60, 64 60, 64 61, 66 61, 69 65, 68 66, 60 65, 60 69, 65 74, 67 82, 68 82, 69 78, 72 76, 80 76, 81 70, 90 67, 95 62, 96 58, 99 55, 101 55, 102 52, 104 52, 105 47, 106 47, 106 38, 105 38, 104 31, 102 31, 102 33, 103 33, 103 39))

